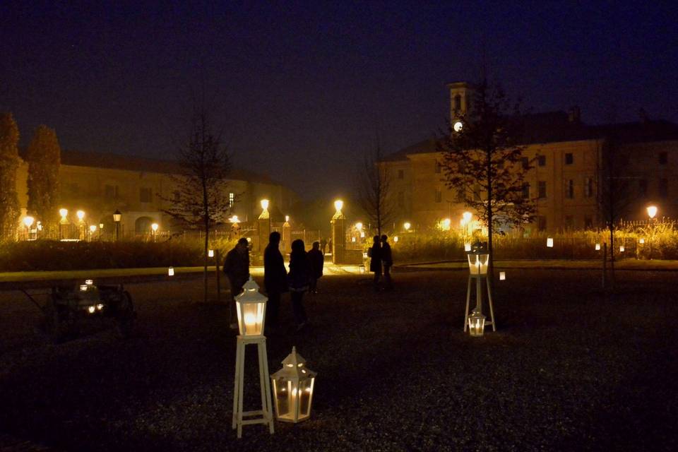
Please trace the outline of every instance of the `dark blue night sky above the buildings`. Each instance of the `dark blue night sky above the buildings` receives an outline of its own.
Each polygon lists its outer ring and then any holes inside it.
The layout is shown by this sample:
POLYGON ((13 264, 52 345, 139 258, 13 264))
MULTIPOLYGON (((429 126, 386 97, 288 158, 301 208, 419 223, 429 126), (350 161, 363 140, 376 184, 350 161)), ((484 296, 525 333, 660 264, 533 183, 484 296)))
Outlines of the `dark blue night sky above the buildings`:
POLYGON ((390 152, 444 125, 482 42, 535 112, 678 121, 672 2, 69 3, 0 4, 0 110, 23 144, 47 124, 62 148, 172 157, 204 92, 238 165, 334 196, 377 133, 390 152))

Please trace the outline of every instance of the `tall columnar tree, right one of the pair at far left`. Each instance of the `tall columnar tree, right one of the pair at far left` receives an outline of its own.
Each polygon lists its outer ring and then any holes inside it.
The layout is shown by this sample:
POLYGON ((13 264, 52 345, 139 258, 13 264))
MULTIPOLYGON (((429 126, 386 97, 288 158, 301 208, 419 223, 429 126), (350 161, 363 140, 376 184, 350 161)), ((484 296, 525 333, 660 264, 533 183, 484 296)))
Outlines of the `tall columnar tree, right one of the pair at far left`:
POLYGON ((28 151, 28 213, 42 221, 47 231, 57 227, 59 165, 61 148, 57 133, 47 126, 38 126, 28 151))

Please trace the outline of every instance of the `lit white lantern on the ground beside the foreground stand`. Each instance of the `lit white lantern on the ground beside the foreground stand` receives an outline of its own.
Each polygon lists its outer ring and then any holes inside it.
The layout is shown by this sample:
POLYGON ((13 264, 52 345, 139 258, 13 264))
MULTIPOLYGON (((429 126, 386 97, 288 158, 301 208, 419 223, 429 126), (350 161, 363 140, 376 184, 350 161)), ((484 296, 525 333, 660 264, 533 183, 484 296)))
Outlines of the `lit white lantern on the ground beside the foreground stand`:
POLYGON ((283 369, 270 376, 273 381, 275 418, 283 422, 302 422, 311 416, 316 372, 307 369, 306 361, 292 347, 283 360, 283 369))

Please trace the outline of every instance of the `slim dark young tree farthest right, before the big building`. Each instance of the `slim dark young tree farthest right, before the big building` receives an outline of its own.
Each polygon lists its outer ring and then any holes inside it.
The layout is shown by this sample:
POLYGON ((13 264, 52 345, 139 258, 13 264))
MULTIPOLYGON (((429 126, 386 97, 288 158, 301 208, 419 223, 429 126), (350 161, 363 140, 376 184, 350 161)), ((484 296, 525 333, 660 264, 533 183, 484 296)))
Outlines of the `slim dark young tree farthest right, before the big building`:
MULTIPOLYGON (((619 145, 614 133, 599 141, 597 152, 597 206, 598 214, 609 232, 609 265, 611 284, 614 287, 614 231, 624 218, 634 197, 631 181, 636 179, 627 173, 628 151, 619 145)), ((605 271, 605 269, 603 269, 605 271)))

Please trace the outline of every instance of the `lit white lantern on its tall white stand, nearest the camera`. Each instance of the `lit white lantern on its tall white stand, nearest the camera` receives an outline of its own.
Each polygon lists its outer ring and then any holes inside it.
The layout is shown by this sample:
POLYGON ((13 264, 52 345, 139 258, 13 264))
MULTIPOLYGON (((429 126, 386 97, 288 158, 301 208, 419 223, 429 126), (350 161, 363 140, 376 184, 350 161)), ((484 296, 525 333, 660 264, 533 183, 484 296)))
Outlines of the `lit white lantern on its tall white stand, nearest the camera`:
POLYGON ((270 382, 268 380, 268 355, 266 354, 266 336, 263 335, 266 319, 266 297, 259 293, 254 280, 243 286, 243 291, 235 297, 240 334, 237 337, 235 353, 235 382, 233 388, 233 429, 237 429, 238 438, 242 438, 242 426, 265 424, 273 434, 273 413, 270 402, 270 382), (243 411, 244 362, 246 345, 256 344, 259 358, 259 386, 261 388, 261 410, 243 411), (243 419, 246 417, 247 419, 243 419))

